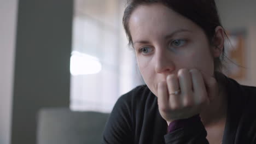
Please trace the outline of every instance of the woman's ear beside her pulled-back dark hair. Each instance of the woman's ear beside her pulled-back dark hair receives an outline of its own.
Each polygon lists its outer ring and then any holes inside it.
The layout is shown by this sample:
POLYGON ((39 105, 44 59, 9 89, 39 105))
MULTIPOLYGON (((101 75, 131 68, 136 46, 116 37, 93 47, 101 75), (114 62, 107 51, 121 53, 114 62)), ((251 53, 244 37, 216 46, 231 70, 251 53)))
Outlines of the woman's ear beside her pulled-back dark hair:
POLYGON ((219 57, 222 54, 224 48, 225 34, 224 29, 221 26, 215 28, 215 35, 212 39, 213 43, 213 56, 219 57))

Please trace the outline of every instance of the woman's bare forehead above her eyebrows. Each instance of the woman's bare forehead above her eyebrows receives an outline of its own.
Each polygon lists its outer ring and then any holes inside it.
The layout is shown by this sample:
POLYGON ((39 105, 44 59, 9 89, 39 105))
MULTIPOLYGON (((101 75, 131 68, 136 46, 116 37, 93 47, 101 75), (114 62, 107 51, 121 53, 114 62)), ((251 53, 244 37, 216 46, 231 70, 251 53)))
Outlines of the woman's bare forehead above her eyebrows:
POLYGON ((179 29, 194 30, 195 23, 160 3, 139 5, 131 14, 129 29, 136 37, 163 35, 179 29))

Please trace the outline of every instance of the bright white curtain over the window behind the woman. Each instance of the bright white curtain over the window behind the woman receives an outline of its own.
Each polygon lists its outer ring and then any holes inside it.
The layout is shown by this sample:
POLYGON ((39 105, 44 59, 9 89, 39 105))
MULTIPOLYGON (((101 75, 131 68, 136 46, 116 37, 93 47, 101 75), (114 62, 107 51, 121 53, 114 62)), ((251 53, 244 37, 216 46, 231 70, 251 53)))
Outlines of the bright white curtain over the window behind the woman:
POLYGON ((72 110, 110 112, 121 94, 143 83, 127 47, 123 10, 120 0, 75 0, 72 110))

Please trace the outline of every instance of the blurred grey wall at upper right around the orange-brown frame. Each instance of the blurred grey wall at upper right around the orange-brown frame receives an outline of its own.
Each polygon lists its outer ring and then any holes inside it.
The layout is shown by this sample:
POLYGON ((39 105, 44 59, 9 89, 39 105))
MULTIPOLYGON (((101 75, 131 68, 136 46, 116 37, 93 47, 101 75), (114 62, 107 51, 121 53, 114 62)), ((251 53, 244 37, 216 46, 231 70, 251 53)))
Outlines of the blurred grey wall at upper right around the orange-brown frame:
POLYGON ((238 80, 242 84, 256 86, 256 1, 216 0, 220 18, 228 31, 245 29, 246 38, 246 78, 238 80))

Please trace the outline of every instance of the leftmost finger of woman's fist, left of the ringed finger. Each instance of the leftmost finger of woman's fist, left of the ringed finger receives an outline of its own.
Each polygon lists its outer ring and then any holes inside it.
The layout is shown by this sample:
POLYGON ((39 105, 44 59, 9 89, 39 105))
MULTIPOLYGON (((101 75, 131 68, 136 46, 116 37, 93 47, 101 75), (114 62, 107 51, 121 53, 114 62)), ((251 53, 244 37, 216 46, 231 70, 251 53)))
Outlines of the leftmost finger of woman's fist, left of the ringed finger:
POLYGON ((158 107, 161 111, 168 111, 168 90, 166 82, 158 83, 158 107))

